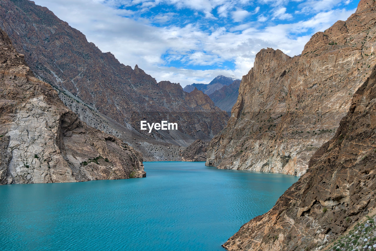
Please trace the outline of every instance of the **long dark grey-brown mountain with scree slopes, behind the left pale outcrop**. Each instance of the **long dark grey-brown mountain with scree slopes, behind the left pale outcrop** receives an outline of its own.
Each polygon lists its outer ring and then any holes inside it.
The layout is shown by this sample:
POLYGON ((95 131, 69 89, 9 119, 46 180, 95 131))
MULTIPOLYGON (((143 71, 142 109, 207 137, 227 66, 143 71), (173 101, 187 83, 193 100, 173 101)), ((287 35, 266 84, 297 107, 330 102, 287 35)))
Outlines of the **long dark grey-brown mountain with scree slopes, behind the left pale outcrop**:
POLYGON ((180 158, 180 146, 210 140, 228 115, 202 91, 156 82, 137 65, 120 64, 45 7, 28 0, 0 2, 0 28, 37 78, 51 84, 71 110, 94 128, 116 135, 148 160, 180 158), (177 131, 140 130, 140 121, 178 123, 177 131), (176 148, 174 153, 164 151, 176 148), (157 155, 151 149, 162 149, 157 155))

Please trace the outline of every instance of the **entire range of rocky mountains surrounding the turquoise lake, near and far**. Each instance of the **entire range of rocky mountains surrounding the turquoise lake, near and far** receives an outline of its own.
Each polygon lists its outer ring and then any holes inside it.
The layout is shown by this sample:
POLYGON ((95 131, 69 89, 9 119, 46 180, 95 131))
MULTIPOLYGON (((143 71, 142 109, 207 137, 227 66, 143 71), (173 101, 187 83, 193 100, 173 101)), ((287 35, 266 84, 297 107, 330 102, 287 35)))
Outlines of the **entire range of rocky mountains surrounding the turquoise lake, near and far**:
POLYGON ((208 166, 301 176, 224 243, 231 251, 323 250, 374 212, 374 0, 301 55, 262 49, 241 82, 190 92, 120 64, 33 2, 2 0, 0 20, 1 184, 141 178, 143 160, 205 152, 208 166), (179 130, 139 129, 165 118, 179 130))

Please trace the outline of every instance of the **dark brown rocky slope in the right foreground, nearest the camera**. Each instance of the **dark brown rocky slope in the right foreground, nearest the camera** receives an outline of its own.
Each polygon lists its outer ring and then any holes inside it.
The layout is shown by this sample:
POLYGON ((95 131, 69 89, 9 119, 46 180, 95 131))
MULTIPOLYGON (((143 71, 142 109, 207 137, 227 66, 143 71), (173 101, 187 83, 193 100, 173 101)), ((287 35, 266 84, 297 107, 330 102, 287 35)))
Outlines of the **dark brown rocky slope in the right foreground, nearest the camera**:
MULTIPOLYGON (((334 138, 267 213, 244 224, 228 250, 318 250, 376 208, 376 67, 334 138)), ((358 249, 357 249, 358 250, 358 249)))

